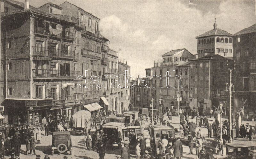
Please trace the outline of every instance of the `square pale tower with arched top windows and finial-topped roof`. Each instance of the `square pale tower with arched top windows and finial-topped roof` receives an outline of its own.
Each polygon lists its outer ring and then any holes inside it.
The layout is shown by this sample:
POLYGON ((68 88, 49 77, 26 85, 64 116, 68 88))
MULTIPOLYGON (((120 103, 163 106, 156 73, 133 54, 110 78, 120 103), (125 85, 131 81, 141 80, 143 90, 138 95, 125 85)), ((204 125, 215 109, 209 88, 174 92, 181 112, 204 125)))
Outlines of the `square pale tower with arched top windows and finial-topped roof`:
POLYGON ((212 30, 196 37, 198 57, 200 58, 208 54, 233 57, 232 34, 217 28, 216 21, 213 26, 212 30))

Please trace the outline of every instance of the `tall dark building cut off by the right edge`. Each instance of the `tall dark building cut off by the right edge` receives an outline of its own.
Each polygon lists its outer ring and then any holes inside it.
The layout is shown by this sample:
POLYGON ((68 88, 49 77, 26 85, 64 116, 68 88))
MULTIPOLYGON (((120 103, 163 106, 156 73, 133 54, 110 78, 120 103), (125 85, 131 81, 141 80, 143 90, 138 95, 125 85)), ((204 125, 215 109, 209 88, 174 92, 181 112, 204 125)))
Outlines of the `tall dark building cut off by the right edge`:
POLYGON ((249 111, 255 111, 256 100, 256 56, 255 56, 255 42, 256 42, 256 24, 245 28, 232 37, 234 48, 234 60, 236 69, 233 71, 235 76, 235 109, 241 107, 241 101, 247 99, 244 108, 249 111))

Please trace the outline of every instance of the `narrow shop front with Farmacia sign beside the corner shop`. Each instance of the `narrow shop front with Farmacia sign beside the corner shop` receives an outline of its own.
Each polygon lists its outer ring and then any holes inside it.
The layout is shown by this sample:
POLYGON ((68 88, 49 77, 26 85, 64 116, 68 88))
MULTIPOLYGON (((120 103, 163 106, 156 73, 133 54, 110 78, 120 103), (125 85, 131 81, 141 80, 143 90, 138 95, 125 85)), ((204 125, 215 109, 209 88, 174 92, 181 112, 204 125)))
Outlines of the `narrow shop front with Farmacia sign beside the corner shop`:
POLYGON ((65 105, 65 100, 52 101, 52 107, 50 109, 49 118, 50 119, 61 118, 64 105, 65 105))

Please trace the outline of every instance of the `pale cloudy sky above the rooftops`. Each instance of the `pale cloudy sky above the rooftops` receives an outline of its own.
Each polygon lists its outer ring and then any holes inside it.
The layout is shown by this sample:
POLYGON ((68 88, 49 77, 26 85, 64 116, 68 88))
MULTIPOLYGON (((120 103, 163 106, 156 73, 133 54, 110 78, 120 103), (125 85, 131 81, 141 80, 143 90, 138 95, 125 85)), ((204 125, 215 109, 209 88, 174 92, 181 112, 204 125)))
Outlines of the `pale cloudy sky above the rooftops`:
MULTIPOLYGON (((24 1, 24 0, 19 0, 24 1)), ((30 0, 39 7, 48 0, 30 0)), ((61 4, 65 0, 50 0, 61 4)), ((196 36, 218 28, 234 34, 256 23, 254 0, 68 0, 100 18, 109 46, 127 60, 131 75, 145 75, 153 60, 174 49, 196 54, 196 36)))

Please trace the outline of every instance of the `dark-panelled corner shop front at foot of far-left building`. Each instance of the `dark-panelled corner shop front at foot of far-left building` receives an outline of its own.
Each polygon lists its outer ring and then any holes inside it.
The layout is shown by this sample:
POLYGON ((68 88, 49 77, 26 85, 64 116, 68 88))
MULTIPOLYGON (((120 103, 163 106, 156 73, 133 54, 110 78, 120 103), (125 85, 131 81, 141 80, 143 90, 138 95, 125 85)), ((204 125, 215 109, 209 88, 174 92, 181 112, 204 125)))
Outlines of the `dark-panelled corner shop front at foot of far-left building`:
POLYGON ((42 124, 52 107, 52 99, 4 99, 8 122, 13 125, 42 124))

